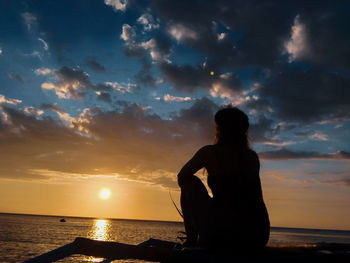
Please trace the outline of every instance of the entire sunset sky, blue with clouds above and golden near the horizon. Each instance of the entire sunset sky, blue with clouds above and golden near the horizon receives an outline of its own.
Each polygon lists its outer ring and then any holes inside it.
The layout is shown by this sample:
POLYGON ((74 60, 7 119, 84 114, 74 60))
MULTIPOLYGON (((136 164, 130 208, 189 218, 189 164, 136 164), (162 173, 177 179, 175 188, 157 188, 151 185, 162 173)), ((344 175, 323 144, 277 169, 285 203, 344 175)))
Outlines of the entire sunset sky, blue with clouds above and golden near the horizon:
POLYGON ((180 221, 176 175, 233 105, 271 225, 350 230, 349 11, 0 0, 0 212, 180 221))

